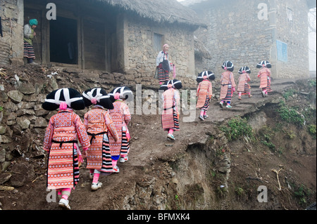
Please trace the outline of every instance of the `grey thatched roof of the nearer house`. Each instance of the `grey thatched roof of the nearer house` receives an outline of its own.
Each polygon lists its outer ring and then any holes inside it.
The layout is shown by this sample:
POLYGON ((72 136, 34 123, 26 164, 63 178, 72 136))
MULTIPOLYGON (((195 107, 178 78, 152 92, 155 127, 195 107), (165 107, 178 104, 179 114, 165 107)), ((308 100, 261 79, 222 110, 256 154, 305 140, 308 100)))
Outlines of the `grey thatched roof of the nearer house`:
POLYGON ((178 22, 185 25, 204 25, 197 14, 176 0, 96 0, 125 11, 137 13, 155 22, 178 22))

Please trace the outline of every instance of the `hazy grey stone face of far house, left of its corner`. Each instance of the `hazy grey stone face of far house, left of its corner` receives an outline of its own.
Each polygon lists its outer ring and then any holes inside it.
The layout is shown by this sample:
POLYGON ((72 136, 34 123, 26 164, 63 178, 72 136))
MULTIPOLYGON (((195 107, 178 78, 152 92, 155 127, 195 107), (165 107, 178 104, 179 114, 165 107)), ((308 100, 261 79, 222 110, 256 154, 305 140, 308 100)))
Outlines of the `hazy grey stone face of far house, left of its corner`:
POLYGON ((219 77, 223 72, 221 65, 230 60, 235 64, 235 74, 240 67, 249 66, 251 76, 256 77, 256 64, 270 59, 272 31, 268 20, 257 19, 257 2, 232 1, 234 7, 217 4, 199 13, 206 16, 209 25, 197 34, 212 54, 211 60, 204 60, 206 70, 219 77))

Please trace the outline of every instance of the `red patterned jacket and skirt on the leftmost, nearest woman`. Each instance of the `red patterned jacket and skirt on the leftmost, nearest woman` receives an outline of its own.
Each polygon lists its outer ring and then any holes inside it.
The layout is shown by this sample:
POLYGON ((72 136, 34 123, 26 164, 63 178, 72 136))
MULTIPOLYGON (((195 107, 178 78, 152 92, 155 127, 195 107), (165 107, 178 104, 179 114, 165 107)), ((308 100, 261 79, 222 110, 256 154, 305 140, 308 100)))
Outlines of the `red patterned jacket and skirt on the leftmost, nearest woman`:
POLYGON ((73 110, 62 110, 49 120, 44 137, 44 150, 49 151, 48 189, 75 187, 79 178, 77 143, 89 147, 89 137, 80 117, 73 110))

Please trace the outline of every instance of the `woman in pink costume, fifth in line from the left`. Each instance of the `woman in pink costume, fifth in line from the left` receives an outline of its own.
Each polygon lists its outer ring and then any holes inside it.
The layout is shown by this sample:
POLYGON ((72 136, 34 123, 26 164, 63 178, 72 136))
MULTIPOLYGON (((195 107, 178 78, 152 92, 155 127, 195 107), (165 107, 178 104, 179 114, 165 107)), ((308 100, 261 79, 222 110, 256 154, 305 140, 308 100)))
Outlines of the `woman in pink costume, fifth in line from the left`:
POLYGON ((213 72, 205 71, 198 74, 197 82, 199 83, 197 87, 197 105, 196 108, 201 110, 199 119, 204 121, 208 118, 207 110, 209 109, 209 102, 213 96, 213 86, 211 80, 215 80, 215 75, 213 72))

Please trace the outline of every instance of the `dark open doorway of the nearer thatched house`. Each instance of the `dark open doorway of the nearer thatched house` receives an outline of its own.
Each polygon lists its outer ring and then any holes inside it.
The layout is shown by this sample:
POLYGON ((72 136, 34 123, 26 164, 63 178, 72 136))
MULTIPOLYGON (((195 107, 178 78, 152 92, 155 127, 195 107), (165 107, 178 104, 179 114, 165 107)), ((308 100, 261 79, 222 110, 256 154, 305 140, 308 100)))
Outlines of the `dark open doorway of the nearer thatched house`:
POLYGON ((50 61, 78 64, 77 20, 57 16, 49 22, 50 61))

